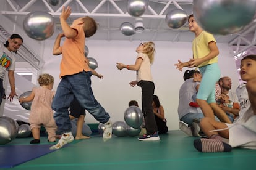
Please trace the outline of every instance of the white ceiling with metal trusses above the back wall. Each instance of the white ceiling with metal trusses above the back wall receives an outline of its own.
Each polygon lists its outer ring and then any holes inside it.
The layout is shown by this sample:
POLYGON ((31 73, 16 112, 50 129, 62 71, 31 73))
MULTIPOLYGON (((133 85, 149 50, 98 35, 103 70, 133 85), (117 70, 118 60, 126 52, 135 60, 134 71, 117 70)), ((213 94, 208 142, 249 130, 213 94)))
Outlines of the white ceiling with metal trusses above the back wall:
MULTIPOLYGON (((127 13, 127 2, 125 0, 59 0, 59 4, 53 6, 48 1, 58 0, 6 0, 4 10, 1 14, 12 20, 22 28, 23 20, 30 12, 43 11, 53 15, 56 28, 53 36, 61 32, 59 26, 59 15, 62 6, 70 6, 72 14, 68 22, 77 17, 88 15, 95 18, 98 23, 98 31, 89 39, 93 40, 124 40, 124 41, 169 41, 169 42, 191 42, 194 34, 187 29, 187 24, 179 29, 171 29, 165 22, 166 14, 173 9, 183 9, 187 14, 192 14, 192 0, 150 0, 145 13, 140 17, 143 19, 143 33, 135 33, 132 36, 125 36, 119 30, 123 22, 134 24, 135 18, 127 13)), ((205 0, 206 1, 206 0, 205 0)), ((221 18, 220 18, 221 19, 221 18)), ((228 43, 234 46, 235 55, 242 51, 253 52, 256 44, 255 36, 256 22, 250 23, 236 34, 226 36, 216 35, 217 42, 228 43)))

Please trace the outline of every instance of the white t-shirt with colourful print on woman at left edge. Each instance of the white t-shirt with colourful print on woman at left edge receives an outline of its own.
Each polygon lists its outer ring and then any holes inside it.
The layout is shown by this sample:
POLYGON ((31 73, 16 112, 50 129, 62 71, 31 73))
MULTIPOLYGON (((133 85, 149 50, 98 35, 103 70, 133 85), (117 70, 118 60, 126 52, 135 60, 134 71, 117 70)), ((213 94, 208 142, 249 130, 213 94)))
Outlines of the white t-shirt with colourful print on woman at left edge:
POLYGON ((0 78, 4 79, 7 70, 15 70, 15 57, 4 44, 0 43, 0 78))

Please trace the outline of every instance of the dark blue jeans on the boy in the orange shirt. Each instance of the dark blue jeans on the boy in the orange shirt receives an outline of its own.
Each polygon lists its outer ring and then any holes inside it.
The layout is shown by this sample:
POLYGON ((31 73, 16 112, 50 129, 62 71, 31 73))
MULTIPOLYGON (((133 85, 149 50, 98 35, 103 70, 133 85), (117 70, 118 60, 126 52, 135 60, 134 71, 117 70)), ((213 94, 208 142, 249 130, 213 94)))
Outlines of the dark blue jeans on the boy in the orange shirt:
POLYGON ((67 75, 61 79, 52 108, 54 119, 61 133, 70 132, 72 125, 69 119, 69 106, 75 98, 79 101, 81 107, 85 108, 100 123, 108 122, 110 116, 100 103, 95 99, 91 87, 92 72, 80 72, 75 75, 67 75))

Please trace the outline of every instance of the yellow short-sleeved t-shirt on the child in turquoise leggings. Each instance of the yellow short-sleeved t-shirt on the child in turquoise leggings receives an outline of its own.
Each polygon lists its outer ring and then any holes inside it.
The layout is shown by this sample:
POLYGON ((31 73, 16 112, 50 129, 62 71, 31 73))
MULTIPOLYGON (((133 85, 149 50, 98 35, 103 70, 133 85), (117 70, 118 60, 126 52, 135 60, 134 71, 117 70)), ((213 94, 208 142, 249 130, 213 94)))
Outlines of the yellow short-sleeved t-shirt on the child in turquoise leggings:
MULTIPOLYGON (((215 42, 216 40, 213 37, 212 34, 207 33, 206 31, 202 31, 199 36, 197 36, 193 42, 192 42, 192 50, 193 50, 193 56, 194 59, 200 59, 202 57, 205 57, 207 54, 210 53, 210 49, 208 47, 209 42, 215 42)), ((202 67, 204 65, 217 63, 218 62, 218 56, 214 57, 211 60, 208 60, 206 62, 203 62, 202 64, 198 65, 198 67, 202 67)))

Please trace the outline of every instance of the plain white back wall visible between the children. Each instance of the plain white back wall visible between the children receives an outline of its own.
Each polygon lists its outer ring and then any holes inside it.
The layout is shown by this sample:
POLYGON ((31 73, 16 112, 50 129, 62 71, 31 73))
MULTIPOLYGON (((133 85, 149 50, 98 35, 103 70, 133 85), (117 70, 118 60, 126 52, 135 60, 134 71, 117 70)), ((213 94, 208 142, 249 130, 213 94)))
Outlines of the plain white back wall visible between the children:
MULTIPOLYGON (((45 41, 43 59, 45 65, 42 73, 50 73, 55 77, 54 89, 59 83, 59 63, 61 55, 51 54, 54 41, 45 41)), ((103 105, 111 120, 124 121, 124 110, 130 100, 137 100, 141 107, 140 87, 130 87, 129 82, 135 80, 135 71, 117 70, 116 62, 133 64, 135 62, 135 48, 140 41, 87 41, 89 49, 88 57, 93 57, 98 62, 96 71, 104 76, 100 80, 93 76, 92 88, 95 98, 103 105)), ((177 105, 179 87, 183 83, 183 72, 176 70, 174 66, 177 60, 187 61, 192 57, 190 42, 155 42, 156 55, 152 65, 152 73, 155 82, 155 94, 160 98, 164 107, 168 127, 170 130, 178 129, 177 105)), ((238 75, 233 56, 226 44, 218 44, 220 55, 219 65, 222 76, 229 76, 233 80, 233 90, 238 86, 238 75)), ((87 123, 97 121, 87 113, 87 123)))

